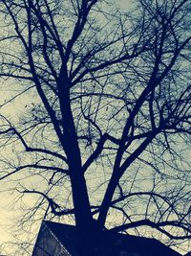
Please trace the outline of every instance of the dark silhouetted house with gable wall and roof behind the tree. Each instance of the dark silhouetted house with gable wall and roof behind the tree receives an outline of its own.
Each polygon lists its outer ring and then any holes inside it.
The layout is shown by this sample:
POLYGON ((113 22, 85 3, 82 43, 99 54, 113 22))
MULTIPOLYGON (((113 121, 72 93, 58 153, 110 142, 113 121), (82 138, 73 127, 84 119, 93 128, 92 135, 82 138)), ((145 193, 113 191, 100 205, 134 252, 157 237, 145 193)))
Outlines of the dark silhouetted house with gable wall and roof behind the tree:
MULTIPOLYGON (((180 256, 156 239, 105 232, 103 244, 110 256, 180 256)), ((43 221, 32 256, 77 256, 75 226, 43 221)))

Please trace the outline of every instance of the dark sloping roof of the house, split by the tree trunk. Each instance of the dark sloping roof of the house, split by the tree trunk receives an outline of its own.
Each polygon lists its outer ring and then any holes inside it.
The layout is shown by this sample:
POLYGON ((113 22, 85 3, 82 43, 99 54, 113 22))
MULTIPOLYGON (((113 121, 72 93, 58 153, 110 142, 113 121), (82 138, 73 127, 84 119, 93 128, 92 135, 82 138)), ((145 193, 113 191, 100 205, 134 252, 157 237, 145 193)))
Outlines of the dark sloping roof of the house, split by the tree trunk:
MULTIPOLYGON (((61 224, 53 221, 44 221, 47 227, 53 232, 57 240, 66 247, 72 254, 76 255, 76 234, 75 226, 68 224, 61 224)), ((155 256, 180 256, 180 253, 160 243, 156 239, 143 238, 132 235, 125 235, 119 233, 111 233, 104 231, 104 246, 106 245, 114 251, 129 251, 141 253, 141 255, 155 255, 155 256), (112 244, 112 245, 111 245, 112 244), (113 247, 113 248, 112 248, 113 247)), ((112 254, 113 255, 113 254, 112 254)))

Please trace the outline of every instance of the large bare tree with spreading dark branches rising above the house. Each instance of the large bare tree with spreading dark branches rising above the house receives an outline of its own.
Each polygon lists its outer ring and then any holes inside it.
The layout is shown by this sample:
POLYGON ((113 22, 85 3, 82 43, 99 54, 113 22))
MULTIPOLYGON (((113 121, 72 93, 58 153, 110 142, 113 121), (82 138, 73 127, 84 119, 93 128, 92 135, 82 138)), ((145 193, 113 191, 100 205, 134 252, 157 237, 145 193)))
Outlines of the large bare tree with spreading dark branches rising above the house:
POLYGON ((80 256, 105 227, 190 238, 190 1, 117 5, 0 4, 0 179, 38 196, 27 219, 74 215, 80 256))

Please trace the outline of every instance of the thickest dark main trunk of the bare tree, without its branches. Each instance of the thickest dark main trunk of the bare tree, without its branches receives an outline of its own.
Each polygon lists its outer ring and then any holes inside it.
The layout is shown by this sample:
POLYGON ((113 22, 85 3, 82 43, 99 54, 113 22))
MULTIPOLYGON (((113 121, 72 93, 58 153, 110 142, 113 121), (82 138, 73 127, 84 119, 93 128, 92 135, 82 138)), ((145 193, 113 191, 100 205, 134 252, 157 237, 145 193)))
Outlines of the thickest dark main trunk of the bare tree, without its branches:
POLYGON ((91 213, 86 181, 81 170, 81 155, 71 109, 70 91, 66 87, 64 89, 63 86, 60 86, 59 95, 61 95, 60 108, 62 110, 64 128, 62 145, 67 155, 74 201, 77 255, 97 256, 98 254, 95 254, 96 236, 94 220, 91 213))

